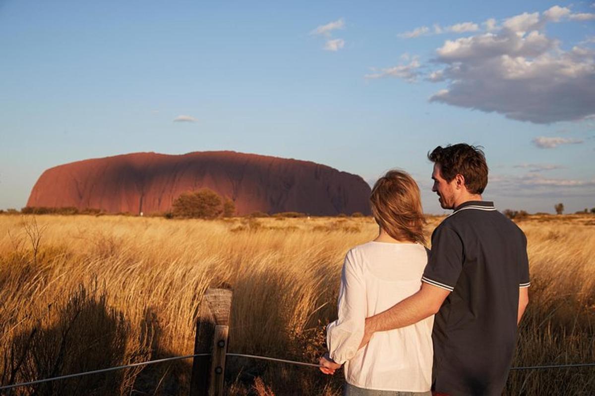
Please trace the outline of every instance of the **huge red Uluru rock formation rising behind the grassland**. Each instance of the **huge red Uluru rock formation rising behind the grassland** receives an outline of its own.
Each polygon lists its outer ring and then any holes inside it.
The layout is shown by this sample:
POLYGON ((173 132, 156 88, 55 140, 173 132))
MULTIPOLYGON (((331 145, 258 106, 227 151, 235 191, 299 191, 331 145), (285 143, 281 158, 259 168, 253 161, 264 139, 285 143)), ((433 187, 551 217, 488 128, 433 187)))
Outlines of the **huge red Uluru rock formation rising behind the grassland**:
POLYGON ((168 211, 181 193, 201 188, 233 199, 239 215, 370 214, 370 188, 360 176, 310 161, 234 151, 133 153, 52 167, 33 186, 27 206, 148 214, 168 211))

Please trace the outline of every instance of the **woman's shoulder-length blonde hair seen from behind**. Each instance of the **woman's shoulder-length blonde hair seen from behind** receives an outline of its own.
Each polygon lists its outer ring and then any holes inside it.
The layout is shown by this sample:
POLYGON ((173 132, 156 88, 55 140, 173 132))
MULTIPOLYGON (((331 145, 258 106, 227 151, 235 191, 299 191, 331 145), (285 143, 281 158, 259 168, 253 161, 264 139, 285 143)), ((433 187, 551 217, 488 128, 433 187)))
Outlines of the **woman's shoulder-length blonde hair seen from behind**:
POLYGON ((419 187, 408 173, 389 170, 374 184, 370 202, 376 223, 386 233, 397 240, 425 245, 425 218, 419 187))

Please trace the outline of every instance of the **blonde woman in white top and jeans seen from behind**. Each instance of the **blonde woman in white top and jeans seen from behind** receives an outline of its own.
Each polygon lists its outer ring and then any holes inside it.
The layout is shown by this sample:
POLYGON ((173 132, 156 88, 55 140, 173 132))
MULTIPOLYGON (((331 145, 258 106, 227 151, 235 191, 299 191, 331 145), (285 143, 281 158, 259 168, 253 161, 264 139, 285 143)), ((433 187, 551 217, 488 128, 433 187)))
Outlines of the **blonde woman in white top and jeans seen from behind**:
POLYGON ((359 349, 365 318, 389 309, 421 287, 427 263, 419 188, 407 173, 390 170, 370 197, 380 232, 347 252, 339 290, 339 319, 327 327, 321 371, 345 365, 346 396, 431 395, 434 317, 375 333, 359 349))

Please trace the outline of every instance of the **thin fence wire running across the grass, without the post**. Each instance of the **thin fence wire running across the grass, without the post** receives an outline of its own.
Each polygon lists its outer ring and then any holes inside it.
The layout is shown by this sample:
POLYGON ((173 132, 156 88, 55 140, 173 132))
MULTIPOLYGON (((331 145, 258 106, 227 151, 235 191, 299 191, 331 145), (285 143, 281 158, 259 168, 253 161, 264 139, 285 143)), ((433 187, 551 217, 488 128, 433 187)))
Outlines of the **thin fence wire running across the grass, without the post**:
MULTIPOLYGON (((12 389, 12 388, 17 388, 17 387, 27 387, 30 385, 42 384, 43 382, 58 381, 59 379, 67 379, 67 378, 74 378, 74 377, 79 377, 79 376, 83 376, 83 375, 99 374, 99 373, 105 373, 105 372, 109 372, 109 371, 129 369, 129 368, 133 368, 133 367, 137 367, 137 366, 154 365, 156 363, 171 362, 173 360, 183 360, 183 359, 190 359, 191 357, 201 357, 201 356, 211 356, 211 354, 210 353, 196 353, 196 354, 184 355, 184 356, 164 357, 163 359, 149 360, 148 362, 131 363, 130 365, 115 366, 115 367, 109 367, 109 368, 105 368, 105 369, 86 371, 86 372, 82 372, 82 373, 61 375, 61 376, 53 377, 53 378, 37 379, 36 381, 20 382, 19 384, 4 385, 4 386, 0 387, 0 391, 5 390, 5 389, 12 389)), ((269 360, 271 362, 288 363, 290 365, 309 366, 309 367, 315 367, 315 368, 322 367, 321 365, 317 365, 315 363, 296 362, 295 360, 278 359, 277 357, 258 356, 258 355, 250 355, 250 354, 243 354, 243 353, 226 353, 226 356, 247 357, 249 359, 269 360)), ((577 363, 577 364, 571 364, 571 365, 524 366, 524 367, 513 367, 513 368, 511 368, 511 370, 544 370, 544 369, 563 369, 563 368, 579 368, 579 367, 595 367, 595 363, 577 363)))

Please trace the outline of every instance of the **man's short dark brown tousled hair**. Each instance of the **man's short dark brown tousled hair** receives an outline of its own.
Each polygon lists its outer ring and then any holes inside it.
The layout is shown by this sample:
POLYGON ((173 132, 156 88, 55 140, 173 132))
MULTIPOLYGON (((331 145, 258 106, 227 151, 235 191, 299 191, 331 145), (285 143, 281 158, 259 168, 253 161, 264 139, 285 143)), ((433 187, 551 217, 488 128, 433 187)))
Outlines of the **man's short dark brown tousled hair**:
POLYGON ((486 189, 488 168, 480 146, 465 143, 438 146, 428 153, 428 159, 440 165, 440 175, 447 182, 462 175, 471 194, 481 194, 486 189))

